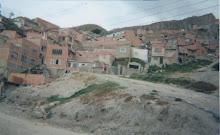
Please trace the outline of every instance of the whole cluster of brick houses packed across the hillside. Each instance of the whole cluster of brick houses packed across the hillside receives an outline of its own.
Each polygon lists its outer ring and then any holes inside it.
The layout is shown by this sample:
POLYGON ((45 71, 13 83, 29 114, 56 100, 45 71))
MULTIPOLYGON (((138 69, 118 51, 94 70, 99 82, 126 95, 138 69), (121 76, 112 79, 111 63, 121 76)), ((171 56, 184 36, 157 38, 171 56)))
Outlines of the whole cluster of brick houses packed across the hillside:
POLYGON ((43 79, 32 76, 37 85, 70 71, 126 75, 146 71, 150 65, 184 63, 189 56, 219 56, 217 39, 199 39, 184 29, 162 30, 160 37, 148 40, 146 34, 154 34, 153 30, 123 30, 100 36, 60 28, 41 18, 17 17, 13 22, 23 33, 6 29, 0 33, 0 75, 15 83, 27 81, 27 75, 21 76, 32 69, 41 69, 38 74, 44 75, 43 79), (123 59, 126 64, 113 66, 114 61, 123 59))

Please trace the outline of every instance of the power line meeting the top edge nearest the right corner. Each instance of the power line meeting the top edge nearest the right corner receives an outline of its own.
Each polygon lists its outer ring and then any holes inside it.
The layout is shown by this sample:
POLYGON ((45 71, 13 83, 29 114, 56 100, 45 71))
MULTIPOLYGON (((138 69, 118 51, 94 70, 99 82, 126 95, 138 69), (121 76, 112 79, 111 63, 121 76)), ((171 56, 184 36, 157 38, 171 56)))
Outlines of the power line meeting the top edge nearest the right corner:
POLYGON ((124 22, 128 22, 128 21, 133 21, 133 20, 137 20, 137 19, 146 18, 146 17, 149 17, 149 16, 153 16, 153 15, 161 14, 161 13, 164 13, 164 12, 173 11, 173 10, 176 10, 176 9, 185 8, 185 7, 188 7, 188 6, 192 6, 192 5, 200 4, 200 3, 203 3, 203 2, 207 2, 207 1, 208 1, 208 0, 204 0, 204 1, 201 1, 201 2, 197 2, 197 3, 193 3, 193 4, 189 4, 189 5, 181 6, 181 7, 174 8, 174 9, 170 9, 170 10, 167 10, 167 11, 160 11, 160 12, 157 12, 157 13, 154 13, 154 14, 150 14, 150 15, 147 15, 147 16, 137 17, 137 18, 133 18, 133 19, 130 19, 130 20, 125 20, 125 21, 121 21, 121 22, 113 23, 113 24, 110 24, 110 25, 106 25, 106 26, 104 26, 104 27, 109 27, 109 26, 113 26, 113 25, 116 25, 116 24, 119 24, 119 23, 124 23, 124 22))

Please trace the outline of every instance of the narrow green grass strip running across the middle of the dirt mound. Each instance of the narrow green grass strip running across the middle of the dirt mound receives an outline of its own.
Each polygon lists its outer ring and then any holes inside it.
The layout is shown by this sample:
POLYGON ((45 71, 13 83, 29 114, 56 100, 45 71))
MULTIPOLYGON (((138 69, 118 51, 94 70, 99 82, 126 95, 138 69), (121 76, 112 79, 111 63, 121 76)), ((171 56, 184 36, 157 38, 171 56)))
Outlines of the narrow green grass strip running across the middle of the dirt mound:
MULTIPOLYGON (((60 103, 62 104, 62 103, 69 102, 71 99, 76 98, 78 96, 81 96, 83 94, 90 93, 94 90, 101 91, 103 93, 105 91, 111 91, 111 90, 118 89, 118 88, 121 88, 118 83, 108 81, 103 84, 90 85, 87 88, 84 88, 84 89, 81 89, 81 90, 75 92, 73 95, 71 95, 69 97, 62 98, 62 97, 59 97, 59 95, 52 95, 47 98, 47 101, 48 102, 60 101, 60 103)), ((50 110, 48 110, 48 112, 49 111, 50 110)))

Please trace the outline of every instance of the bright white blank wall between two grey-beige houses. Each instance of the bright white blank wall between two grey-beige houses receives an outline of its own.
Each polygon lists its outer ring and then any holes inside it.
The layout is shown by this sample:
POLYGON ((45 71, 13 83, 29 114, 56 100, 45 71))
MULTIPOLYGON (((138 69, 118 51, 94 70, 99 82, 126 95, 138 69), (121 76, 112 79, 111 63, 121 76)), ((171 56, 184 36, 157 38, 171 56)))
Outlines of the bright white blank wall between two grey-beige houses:
POLYGON ((148 50, 147 49, 138 49, 138 48, 131 48, 131 57, 138 58, 143 60, 144 62, 148 62, 148 50))

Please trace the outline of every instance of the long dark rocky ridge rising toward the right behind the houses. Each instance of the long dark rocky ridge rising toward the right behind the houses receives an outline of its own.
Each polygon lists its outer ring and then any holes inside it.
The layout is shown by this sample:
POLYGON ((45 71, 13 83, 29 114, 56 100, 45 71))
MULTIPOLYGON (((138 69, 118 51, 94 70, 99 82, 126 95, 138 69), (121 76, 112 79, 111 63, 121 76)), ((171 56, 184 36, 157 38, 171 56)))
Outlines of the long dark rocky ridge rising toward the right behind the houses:
POLYGON ((136 31, 139 28, 146 30, 153 30, 155 32, 158 32, 160 30, 180 30, 180 29, 191 30, 193 25, 214 24, 215 21, 216 21, 215 16, 212 13, 210 13, 203 16, 188 17, 183 20, 162 21, 150 25, 118 28, 109 31, 109 33, 114 33, 124 29, 136 31))

